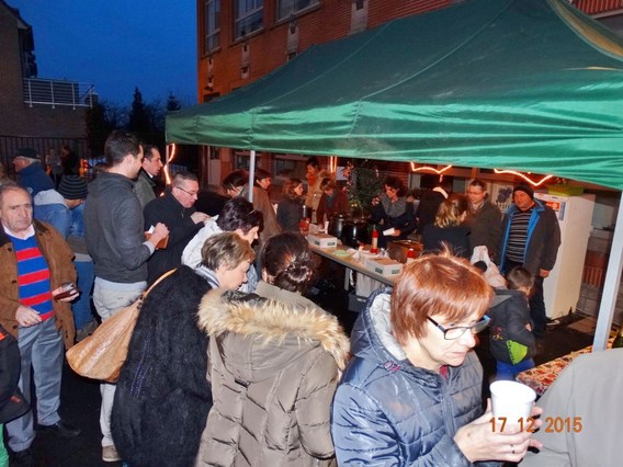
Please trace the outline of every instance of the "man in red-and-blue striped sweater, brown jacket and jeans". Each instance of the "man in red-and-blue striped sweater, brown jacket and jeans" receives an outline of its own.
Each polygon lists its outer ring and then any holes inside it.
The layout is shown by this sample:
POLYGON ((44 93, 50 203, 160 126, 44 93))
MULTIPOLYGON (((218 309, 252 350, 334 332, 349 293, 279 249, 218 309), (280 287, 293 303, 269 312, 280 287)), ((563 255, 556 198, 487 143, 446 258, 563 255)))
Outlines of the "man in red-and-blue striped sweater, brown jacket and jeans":
MULTIPOLYGON (((18 339, 21 354, 20 389, 29 401, 34 375, 39 431, 73 437, 80 430, 60 419, 63 342, 73 344, 71 308, 56 299, 65 283, 76 282, 73 253, 48 224, 33 220, 26 190, 15 184, 0 186, 0 324, 18 339)), ((35 438, 33 413, 7 424, 12 465, 32 465, 35 438)))

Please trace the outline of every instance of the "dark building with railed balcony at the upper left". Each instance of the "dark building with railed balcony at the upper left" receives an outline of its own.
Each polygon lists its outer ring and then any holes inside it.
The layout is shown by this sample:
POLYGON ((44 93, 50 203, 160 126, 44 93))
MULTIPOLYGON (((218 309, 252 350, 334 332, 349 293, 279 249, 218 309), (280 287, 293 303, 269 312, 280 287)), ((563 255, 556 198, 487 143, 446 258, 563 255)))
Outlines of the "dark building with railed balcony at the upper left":
POLYGON ((19 147, 45 155, 69 145, 86 156, 84 111, 92 87, 75 81, 37 78, 32 27, 20 12, 0 0, 0 162, 19 147))

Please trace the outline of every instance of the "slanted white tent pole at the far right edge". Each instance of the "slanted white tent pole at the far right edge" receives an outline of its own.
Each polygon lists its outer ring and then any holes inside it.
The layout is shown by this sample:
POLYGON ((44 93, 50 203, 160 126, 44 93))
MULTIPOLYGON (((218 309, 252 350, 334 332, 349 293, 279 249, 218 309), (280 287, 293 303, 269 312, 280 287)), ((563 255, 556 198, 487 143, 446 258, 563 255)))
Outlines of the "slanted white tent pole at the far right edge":
POLYGON ((623 196, 621 197, 621 200, 619 200, 619 214, 616 216, 616 226, 614 227, 612 248, 610 249, 610 260, 608 261, 605 282, 603 284, 603 294, 601 295, 601 304, 599 305, 599 315, 597 316, 597 328, 594 330, 594 340, 592 342, 593 352, 605 350, 605 345, 608 344, 608 338, 610 337, 610 328, 612 327, 612 318, 614 317, 614 308, 616 306, 616 297, 619 296, 622 259, 623 259, 623 196))

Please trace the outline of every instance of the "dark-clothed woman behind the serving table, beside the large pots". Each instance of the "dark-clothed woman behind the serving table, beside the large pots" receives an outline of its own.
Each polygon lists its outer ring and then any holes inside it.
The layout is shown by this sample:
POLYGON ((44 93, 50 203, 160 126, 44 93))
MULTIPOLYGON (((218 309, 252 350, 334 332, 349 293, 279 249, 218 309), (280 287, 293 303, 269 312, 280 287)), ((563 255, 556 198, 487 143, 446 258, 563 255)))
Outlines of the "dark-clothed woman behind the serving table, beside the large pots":
POLYGON ((407 203, 407 190, 403 181, 397 176, 389 175, 383 183, 385 193, 372 198, 372 217, 370 224, 382 224, 378 229, 378 247, 385 248, 388 241, 404 240, 416 230, 416 216, 414 205, 407 203), (392 234, 384 231, 393 229, 392 234))

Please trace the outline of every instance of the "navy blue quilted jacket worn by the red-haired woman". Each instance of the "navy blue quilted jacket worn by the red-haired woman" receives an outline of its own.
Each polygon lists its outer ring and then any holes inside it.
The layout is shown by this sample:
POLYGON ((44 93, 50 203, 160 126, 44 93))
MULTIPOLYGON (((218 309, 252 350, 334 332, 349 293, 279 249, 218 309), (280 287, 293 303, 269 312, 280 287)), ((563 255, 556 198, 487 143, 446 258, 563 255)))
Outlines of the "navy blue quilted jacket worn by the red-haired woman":
POLYGON ((446 378, 415 367, 390 333, 388 292, 370 298, 352 331, 353 358, 332 406, 338 463, 471 466, 453 436, 483 414, 480 362, 471 352, 446 378))

